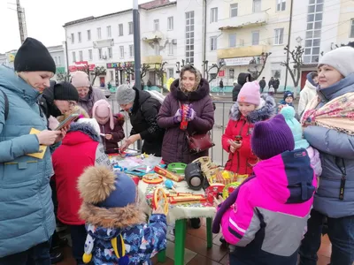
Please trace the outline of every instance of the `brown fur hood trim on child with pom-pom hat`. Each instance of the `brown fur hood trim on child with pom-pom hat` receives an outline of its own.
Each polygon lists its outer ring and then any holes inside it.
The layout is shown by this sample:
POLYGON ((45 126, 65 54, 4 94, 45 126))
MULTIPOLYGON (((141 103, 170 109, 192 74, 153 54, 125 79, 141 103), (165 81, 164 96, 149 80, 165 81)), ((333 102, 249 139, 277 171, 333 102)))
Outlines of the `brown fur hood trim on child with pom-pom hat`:
POLYGON ((105 229, 115 229, 118 234, 129 226, 146 222, 142 208, 134 204, 129 204, 123 208, 101 208, 83 202, 79 210, 79 216, 86 223, 105 229))

